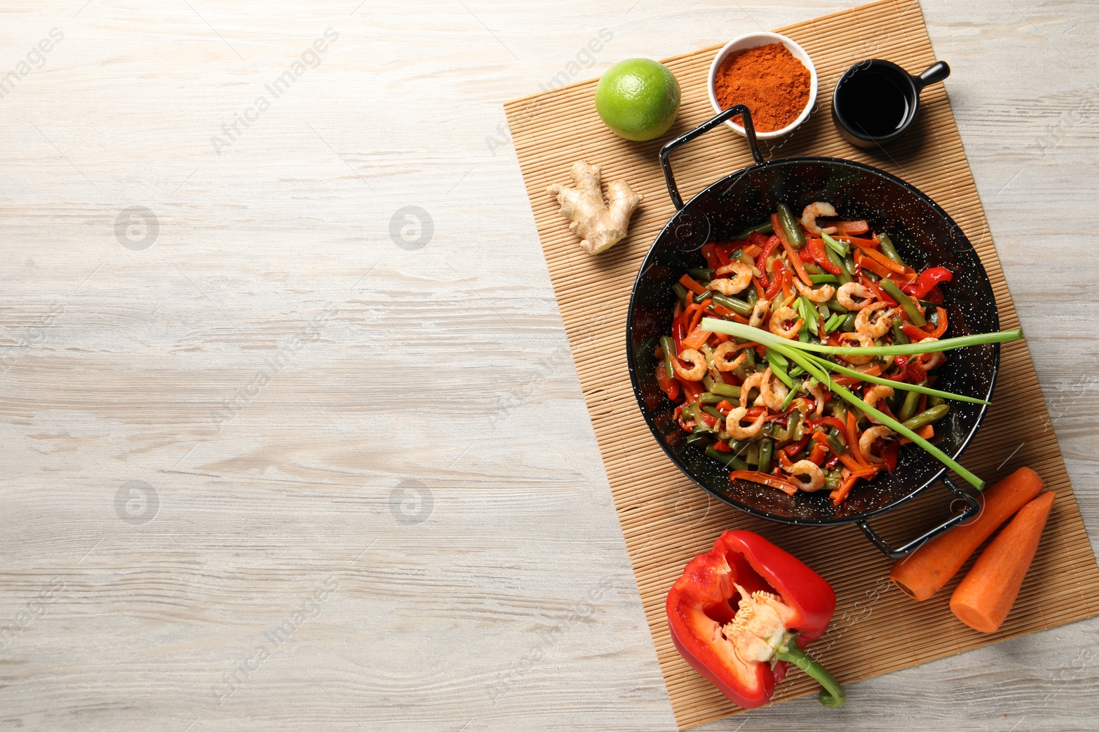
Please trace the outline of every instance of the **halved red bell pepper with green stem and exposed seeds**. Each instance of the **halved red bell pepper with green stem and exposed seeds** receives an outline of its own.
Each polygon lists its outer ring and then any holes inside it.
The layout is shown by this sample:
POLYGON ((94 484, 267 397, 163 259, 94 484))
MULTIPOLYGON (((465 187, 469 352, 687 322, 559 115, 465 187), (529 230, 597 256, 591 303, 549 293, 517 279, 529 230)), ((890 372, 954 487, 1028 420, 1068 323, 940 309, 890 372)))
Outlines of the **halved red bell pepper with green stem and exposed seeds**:
POLYGON ((821 683, 821 703, 843 705, 843 687, 802 650, 824 634, 835 593, 759 534, 721 534, 712 551, 687 564, 665 607, 679 653, 740 706, 767 703, 787 662, 821 683))

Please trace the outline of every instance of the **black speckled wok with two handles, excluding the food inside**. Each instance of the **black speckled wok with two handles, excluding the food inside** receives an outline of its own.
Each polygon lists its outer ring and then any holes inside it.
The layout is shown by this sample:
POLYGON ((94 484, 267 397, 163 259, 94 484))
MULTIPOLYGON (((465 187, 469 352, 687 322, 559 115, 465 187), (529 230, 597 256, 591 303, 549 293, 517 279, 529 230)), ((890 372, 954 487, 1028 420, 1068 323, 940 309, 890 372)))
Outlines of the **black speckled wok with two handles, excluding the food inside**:
MULTIPOLYGON (((675 405, 660 391, 655 378, 655 346, 671 327, 675 306, 671 284, 689 268, 704 266, 698 251, 703 244, 730 240, 746 227, 766 221, 779 202, 796 212, 813 201, 832 203, 844 218, 865 218, 873 230, 888 232, 897 250, 917 270, 943 266, 954 272, 954 280, 943 286, 943 307, 950 322, 946 336, 999 330, 988 275, 957 224, 915 188, 870 166, 823 157, 764 160, 751 114, 743 105, 730 108, 669 142, 660 150, 660 164, 678 211, 656 237, 641 266, 630 301, 626 347, 637 404, 668 458, 704 491, 753 516, 798 526, 854 522, 893 558, 907 554, 975 515, 976 499, 945 475, 937 460, 911 444, 902 448, 897 470, 859 482, 840 506, 833 506, 824 491, 788 496, 756 483, 730 481, 728 468, 687 444, 686 435, 673 419, 675 405), (684 204, 671 173, 669 154, 736 114, 743 115, 756 164, 717 181, 684 204), (954 497, 965 500, 964 511, 897 548, 870 528, 867 519, 897 508, 940 480, 954 497)), ((951 351, 935 386, 988 399, 996 382, 999 352, 999 345, 951 351)), ((976 433, 985 410, 985 405, 952 402, 947 417, 935 426, 939 448, 957 459, 976 433)))

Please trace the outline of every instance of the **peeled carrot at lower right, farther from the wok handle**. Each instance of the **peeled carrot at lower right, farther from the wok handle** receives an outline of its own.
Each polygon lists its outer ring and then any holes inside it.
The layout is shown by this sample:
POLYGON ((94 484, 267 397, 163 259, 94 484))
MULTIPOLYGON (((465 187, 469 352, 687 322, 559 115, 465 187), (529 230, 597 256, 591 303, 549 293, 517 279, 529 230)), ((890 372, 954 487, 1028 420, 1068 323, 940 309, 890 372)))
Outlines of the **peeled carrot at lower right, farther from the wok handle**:
POLYGON ((1020 508, 980 553, 951 596, 951 611, 958 620, 983 633, 1000 629, 1037 551, 1053 497, 1053 493, 1043 493, 1020 508))

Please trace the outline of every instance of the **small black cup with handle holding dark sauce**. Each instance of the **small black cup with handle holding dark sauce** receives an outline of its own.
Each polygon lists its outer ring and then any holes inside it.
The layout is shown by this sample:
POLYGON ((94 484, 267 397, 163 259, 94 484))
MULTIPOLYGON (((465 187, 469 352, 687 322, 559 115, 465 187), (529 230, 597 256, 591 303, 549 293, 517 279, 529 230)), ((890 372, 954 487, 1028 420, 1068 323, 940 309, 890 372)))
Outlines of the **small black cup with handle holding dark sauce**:
POLYGON ((847 69, 832 94, 832 122, 856 147, 877 147, 904 134, 920 111, 920 92, 951 75, 946 61, 935 61, 913 76, 880 58, 847 69))

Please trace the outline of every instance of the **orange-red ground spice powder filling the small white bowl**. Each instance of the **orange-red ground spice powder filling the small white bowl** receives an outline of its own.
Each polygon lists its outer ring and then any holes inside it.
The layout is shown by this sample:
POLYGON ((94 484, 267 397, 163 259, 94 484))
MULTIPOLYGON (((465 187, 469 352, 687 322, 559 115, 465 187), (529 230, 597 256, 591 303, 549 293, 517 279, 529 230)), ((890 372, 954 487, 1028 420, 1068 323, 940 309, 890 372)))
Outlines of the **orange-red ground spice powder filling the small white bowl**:
MULTIPOLYGON (((786 46, 770 43, 730 54, 713 75, 721 109, 746 104, 756 132, 791 124, 809 102, 809 69, 786 46)), ((740 115, 733 122, 743 125, 740 115)))

